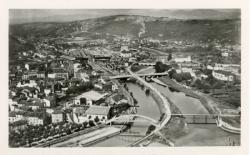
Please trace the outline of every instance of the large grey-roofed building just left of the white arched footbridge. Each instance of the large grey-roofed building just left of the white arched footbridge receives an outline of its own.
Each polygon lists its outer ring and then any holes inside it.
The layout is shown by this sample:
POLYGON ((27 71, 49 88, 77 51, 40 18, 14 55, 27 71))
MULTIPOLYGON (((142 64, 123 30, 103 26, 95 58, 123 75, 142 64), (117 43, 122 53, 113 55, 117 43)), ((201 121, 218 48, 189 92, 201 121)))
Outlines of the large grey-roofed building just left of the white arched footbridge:
POLYGON ((106 121, 110 118, 110 107, 109 106, 91 106, 89 107, 85 114, 87 118, 94 120, 96 117, 99 120, 106 121))

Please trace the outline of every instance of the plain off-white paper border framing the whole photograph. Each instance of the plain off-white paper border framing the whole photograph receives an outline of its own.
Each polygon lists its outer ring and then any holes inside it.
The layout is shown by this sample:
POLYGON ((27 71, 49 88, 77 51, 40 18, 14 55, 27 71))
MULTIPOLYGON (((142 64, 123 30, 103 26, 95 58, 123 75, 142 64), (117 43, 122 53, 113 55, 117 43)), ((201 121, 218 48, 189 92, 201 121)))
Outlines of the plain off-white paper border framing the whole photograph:
MULTIPOLYGON (((2 1, 1 1, 2 2, 2 1)), ((0 4, 0 68, 1 68, 1 100, 0 100, 0 148, 1 154, 181 154, 181 155, 238 155, 247 154, 249 139, 249 2, 247 0, 5 0, 0 4), (8 9, 84 9, 84 8, 144 8, 144 9, 202 9, 202 8, 240 8, 242 14, 242 135, 239 147, 174 147, 174 148, 8 148, 8 9)))

